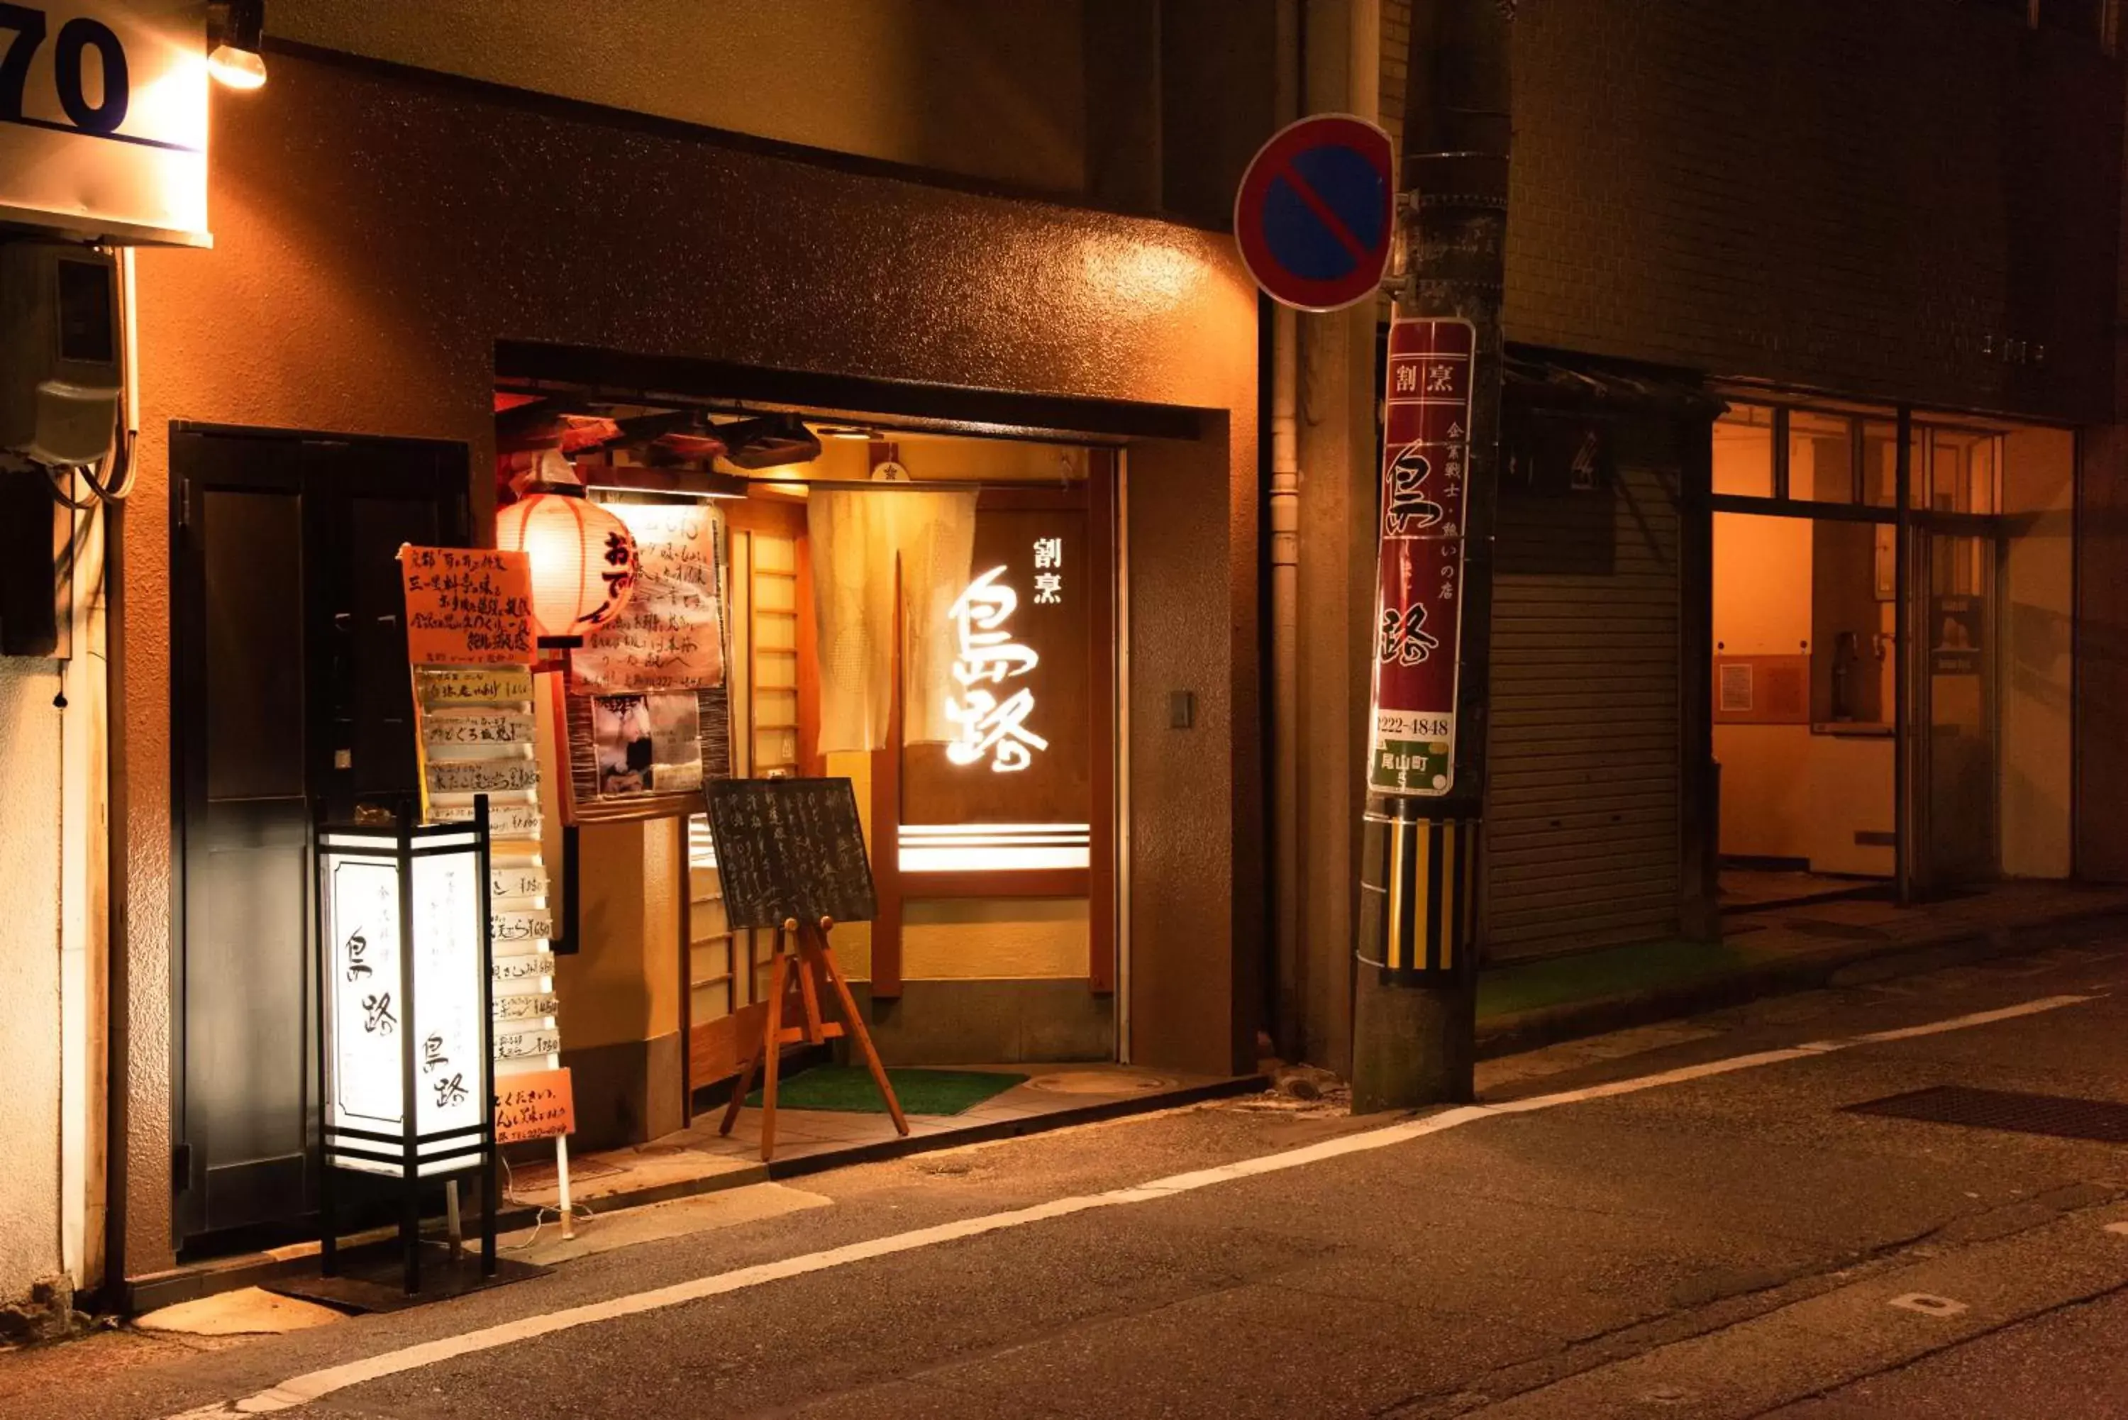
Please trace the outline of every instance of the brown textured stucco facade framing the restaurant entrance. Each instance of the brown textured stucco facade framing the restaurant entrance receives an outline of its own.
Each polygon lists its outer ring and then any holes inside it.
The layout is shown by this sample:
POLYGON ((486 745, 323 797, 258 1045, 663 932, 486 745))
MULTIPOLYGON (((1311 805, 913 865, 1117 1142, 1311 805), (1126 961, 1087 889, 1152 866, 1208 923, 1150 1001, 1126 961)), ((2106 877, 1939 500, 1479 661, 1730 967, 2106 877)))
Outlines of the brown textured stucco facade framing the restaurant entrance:
MULTIPOLYGON (((1224 443, 1190 470, 1213 513, 1190 509, 1194 536, 1173 554, 1194 573, 1134 609, 1141 632, 1166 630, 1149 654, 1187 656, 1207 683, 1187 752, 1217 773, 1162 777, 1162 745, 1138 749, 1158 788, 1136 803, 1138 843, 1166 847, 1134 884, 1202 901, 1173 913, 1192 952, 1249 950, 1228 935, 1230 843, 1256 824, 1226 805, 1247 786, 1230 762, 1256 756, 1253 690, 1211 686, 1253 686, 1256 296, 1224 238, 292 55, 264 89, 217 94, 213 123, 215 249, 140 260, 123 647, 130 1273, 170 1256, 170 419, 460 439, 483 470, 498 339, 1219 411, 1224 443), (1232 634, 1207 634, 1221 622, 1232 634)), ((1158 554, 1153 530, 1134 556, 1158 554)), ((1170 679, 1158 660, 1143 675, 1170 679)), ((1224 1039, 1211 1047, 1226 1054, 1224 1039)))

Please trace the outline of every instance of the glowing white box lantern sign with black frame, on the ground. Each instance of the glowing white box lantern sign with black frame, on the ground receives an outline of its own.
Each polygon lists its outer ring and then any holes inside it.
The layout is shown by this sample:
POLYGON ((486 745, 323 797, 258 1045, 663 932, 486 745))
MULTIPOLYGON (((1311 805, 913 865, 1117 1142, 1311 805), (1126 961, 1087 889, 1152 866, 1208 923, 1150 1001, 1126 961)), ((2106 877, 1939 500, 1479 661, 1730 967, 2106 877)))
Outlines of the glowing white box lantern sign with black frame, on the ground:
POLYGON ((479 826, 319 830, 323 1152, 440 1177, 489 1158, 487 845, 479 826))

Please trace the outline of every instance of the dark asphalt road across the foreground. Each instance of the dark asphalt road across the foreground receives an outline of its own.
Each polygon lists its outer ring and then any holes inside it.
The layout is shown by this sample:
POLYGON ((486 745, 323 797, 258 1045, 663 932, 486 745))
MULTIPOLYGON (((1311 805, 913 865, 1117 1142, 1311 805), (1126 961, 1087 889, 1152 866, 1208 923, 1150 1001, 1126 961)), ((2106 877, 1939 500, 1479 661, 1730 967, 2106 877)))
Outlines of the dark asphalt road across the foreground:
POLYGON ((2128 1103, 2124 1050, 2096 939, 1500 1060, 1481 1113, 1238 1101, 821 1175, 396 1316, 0 1356, 0 1414, 2128 1416, 2128 1150, 1843 1111, 2128 1103))

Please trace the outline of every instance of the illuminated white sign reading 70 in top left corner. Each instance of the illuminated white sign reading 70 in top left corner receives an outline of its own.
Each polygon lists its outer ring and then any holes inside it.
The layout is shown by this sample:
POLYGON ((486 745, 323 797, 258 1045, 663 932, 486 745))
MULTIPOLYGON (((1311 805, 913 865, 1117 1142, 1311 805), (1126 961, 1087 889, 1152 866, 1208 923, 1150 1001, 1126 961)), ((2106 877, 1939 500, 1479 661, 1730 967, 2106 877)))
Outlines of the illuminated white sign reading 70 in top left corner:
POLYGON ((0 4, 0 221, 211 243, 204 4, 0 4))

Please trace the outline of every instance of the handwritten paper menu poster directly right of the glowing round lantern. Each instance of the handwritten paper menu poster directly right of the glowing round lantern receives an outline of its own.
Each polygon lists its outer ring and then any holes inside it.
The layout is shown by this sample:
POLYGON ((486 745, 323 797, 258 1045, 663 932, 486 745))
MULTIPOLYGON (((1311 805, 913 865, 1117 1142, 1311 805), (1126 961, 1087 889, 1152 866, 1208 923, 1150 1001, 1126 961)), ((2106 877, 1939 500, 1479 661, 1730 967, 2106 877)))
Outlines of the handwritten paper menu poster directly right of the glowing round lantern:
POLYGON ((706 690, 724 683, 724 617, 713 507, 609 502, 636 539, 636 590, 568 658, 570 694, 706 690))

